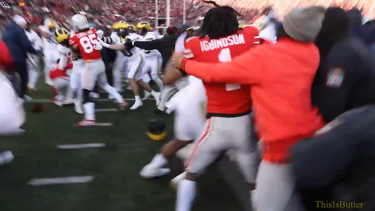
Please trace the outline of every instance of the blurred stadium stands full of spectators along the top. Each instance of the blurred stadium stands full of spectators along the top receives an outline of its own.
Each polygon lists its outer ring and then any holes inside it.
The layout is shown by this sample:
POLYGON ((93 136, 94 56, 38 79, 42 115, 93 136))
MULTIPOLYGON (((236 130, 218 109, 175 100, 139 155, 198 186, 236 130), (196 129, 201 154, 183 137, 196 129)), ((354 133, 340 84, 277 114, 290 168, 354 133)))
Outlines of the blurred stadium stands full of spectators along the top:
MULTIPOLYGON (((5 1, 6 2, 6 1, 5 1)), ((8 1, 12 2, 12 1, 8 1)), ((273 5, 273 8, 278 12, 279 17, 282 17, 290 8, 296 6, 312 6, 312 5, 324 5, 324 6, 340 6, 344 9, 350 9, 352 7, 362 8, 363 15, 365 17, 374 17, 375 8, 374 3, 371 0, 363 0, 352 2, 348 0, 337 0, 337 1, 313 1, 313 0, 274 0, 267 1, 257 0, 218 0, 219 4, 229 5, 235 8, 238 12, 243 15, 243 19, 252 21, 256 19, 260 13, 267 8, 269 5, 273 5)), ((37 0, 37 1, 26 1, 28 7, 23 10, 24 16, 28 21, 33 23, 41 24, 44 20, 43 15, 46 11, 50 12, 51 18, 55 18, 58 22, 67 22, 69 17, 76 14, 79 11, 92 14, 95 19, 105 20, 107 24, 112 24, 118 18, 114 15, 124 15, 124 19, 128 22, 138 23, 142 18, 155 17, 155 1, 154 0, 138 0, 138 1, 127 1, 123 3, 120 0, 113 1, 101 1, 101 0, 37 0)), ((196 18, 201 17, 210 6, 202 3, 199 0, 187 0, 186 1, 186 20, 195 21, 196 18)), ((3 12, 8 15, 12 15, 12 11, 7 11, 3 8, 3 12)), ((183 4, 179 0, 170 1, 170 17, 172 24, 181 24, 183 22, 183 4)), ((158 1, 158 15, 159 18, 166 18, 166 1, 158 1)))

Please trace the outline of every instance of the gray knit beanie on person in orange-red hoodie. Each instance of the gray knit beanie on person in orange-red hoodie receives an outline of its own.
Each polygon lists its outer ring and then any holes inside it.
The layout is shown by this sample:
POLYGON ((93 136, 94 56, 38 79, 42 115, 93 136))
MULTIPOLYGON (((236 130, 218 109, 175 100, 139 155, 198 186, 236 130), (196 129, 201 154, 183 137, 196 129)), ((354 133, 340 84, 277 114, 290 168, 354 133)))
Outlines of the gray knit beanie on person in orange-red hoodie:
POLYGON ((294 8, 283 20, 285 32, 294 40, 314 42, 322 27, 326 9, 321 6, 294 8))

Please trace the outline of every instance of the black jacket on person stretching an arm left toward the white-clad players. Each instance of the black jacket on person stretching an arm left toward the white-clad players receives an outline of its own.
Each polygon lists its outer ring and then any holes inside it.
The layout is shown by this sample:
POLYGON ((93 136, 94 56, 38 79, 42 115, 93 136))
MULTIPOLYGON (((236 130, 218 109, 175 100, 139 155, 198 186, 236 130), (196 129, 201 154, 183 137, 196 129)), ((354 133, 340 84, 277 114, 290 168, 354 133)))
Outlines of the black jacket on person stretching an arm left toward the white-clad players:
POLYGON ((175 35, 165 35, 163 38, 153 41, 136 41, 134 42, 134 46, 144 50, 158 50, 160 54, 162 54, 162 69, 164 69, 166 63, 172 56, 176 40, 177 37, 175 35))

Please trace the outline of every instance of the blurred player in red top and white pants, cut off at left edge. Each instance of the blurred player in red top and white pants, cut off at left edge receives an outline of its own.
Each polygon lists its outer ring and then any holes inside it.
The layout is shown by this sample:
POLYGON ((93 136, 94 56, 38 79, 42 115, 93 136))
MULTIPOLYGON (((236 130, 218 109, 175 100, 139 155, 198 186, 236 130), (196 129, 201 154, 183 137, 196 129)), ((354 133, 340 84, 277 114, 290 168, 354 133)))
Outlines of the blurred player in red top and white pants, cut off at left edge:
MULTIPOLYGON (((3 41, 0 41, 0 135, 10 136, 23 133, 20 129, 25 122, 25 111, 20 98, 8 80, 5 68, 12 68, 12 56, 3 41)), ((0 165, 13 160, 12 152, 0 153, 0 165)))

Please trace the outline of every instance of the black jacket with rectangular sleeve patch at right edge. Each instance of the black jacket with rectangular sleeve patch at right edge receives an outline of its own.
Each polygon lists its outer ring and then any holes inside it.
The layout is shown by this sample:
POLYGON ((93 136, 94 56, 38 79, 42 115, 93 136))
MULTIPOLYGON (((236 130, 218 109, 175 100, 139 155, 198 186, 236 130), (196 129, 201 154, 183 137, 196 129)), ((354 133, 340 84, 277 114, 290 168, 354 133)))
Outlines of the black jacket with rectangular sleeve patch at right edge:
POLYGON ((322 58, 312 84, 312 104, 325 122, 374 102, 373 63, 369 49, 357 38, 346 37, 322 58))

